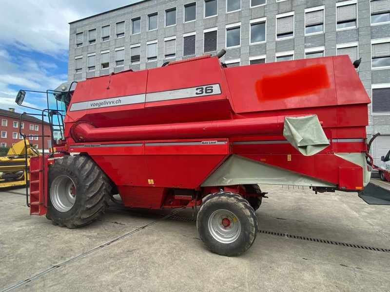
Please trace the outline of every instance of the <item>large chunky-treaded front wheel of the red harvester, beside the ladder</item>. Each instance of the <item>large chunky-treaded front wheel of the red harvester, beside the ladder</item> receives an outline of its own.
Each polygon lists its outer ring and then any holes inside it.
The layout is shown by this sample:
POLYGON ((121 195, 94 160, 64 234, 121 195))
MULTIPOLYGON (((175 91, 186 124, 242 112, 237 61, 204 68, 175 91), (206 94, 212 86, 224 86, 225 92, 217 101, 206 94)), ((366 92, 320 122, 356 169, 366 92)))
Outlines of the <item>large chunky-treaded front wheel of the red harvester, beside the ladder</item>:
POLYGON ((78 228, 104 213, 110 201, 111 183, 87 156, 64 156, 49 167, 46 218, 53 224, 78 228))

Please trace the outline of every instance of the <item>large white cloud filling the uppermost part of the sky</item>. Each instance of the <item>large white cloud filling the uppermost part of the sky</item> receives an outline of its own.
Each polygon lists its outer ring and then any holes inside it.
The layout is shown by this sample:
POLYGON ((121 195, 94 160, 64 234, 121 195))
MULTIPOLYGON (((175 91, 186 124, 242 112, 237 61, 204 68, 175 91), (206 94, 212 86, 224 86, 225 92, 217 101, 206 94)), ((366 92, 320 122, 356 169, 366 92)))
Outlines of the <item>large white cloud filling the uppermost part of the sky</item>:
POLYGON ((62 55, 68 50, 68 22, 133 2, 136 1, 0 0, 0 40, 3 45, 25 51, 62 55))

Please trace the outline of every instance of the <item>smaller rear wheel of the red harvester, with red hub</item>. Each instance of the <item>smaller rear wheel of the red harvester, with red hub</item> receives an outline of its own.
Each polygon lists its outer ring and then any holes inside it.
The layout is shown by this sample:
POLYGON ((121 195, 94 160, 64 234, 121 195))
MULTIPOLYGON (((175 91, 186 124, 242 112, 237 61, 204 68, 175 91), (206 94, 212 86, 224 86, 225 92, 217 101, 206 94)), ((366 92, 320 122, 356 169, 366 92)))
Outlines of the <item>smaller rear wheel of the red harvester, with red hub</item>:
POLYGON ((256 239, 257 217, 240 195, 219 192, 201 205, 196 227, 200 238, 213 253, 239 256, 256 239))

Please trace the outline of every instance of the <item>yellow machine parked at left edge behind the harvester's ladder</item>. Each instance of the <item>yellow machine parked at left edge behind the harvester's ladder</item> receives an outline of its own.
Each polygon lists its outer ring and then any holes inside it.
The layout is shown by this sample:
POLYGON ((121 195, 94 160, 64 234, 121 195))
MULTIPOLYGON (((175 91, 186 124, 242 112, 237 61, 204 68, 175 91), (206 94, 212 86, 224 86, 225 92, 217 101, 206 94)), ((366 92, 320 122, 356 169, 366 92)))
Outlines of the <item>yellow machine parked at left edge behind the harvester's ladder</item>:
POLYGON ((9 148, 6 156, 0 156, 0 188, 25 185, 29 180, 30 157, 38 156, 39 151, 28 140, 19 141, 9 148), (27 171, 25 155, 27 151, 27 171))

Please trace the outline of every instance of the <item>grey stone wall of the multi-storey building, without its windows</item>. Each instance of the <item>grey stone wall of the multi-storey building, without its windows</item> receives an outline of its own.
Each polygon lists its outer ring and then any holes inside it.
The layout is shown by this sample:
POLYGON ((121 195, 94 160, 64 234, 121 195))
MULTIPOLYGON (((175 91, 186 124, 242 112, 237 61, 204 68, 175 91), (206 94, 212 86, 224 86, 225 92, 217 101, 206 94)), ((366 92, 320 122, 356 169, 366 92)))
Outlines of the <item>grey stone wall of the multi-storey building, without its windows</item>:
MULTIPOLYGON (((275 55, 293 51, 294 59, 304 58, 305 49, 324 47, 326 56, 336 55, 337 47, 345 43, 357 43, 358 57, 362 57, 359 67, 360 78, 371 96, 372 84, 389 84, 390 68, 371 70, 371 40, 390 37, 390 22, 371 24, 370 1, 357 0, 357 27, 353 29, 336 29, 336 6, 341 1, 334 0, 267 0, 265 4, 251 7, 251 0, 241 0, 241 9, 227 13, 226 0, 218 0, 218 14, 204 18, 204 0, 144 0, 136 4, 121 7, 93 17, 80 19, 70 23, 69 37, 69 80, 82 80, 111 72, 133 69, 142 70, 161 66, 164 60, 164 38, 176 36, 176 58, 183 58, 183 34, 196 32, 195 55, 203 54, 204 30, 217 27, 217 50, 226 47, 226 25, 240 22, 240 46, 227 49, 222 61, 240 60, 240 65, 248 65, 253 56, 265 55, 266 62, 275 61, 275 55), (196 20, 183 21, 184 5, 196 2, 196 20), (324 6, 324 33, 305 36, 305 9, 324 6), (165 27, 165 10, 176 7, 176 25, 165 27), (293 37, 276 40, 276 15, 294 12, 293 37), (158 12, 158 28, 148 31, 148 15, 158 12), (131 19, 141 18, 141 32, 132 35, 131 19), (250 21, 255 18, 266 18, 266 41, 250 44, 250 21), (115 27, 119 21, 125 21, 125 36, 116 37, 115 27), (100 30, 110 24, 110 40, 101 41, 100 30), (97 32, 96 44, 88 45, 88 30, 97 32), (76 34, 83 32, 83 45, 76 47, 76 34), (147 42, 157 40, 157 60, 147 61, 147 42), (140 63, 130 65, 130 46, 140 44, 140 63), (124 66, 115 67, 115 49, 124 47, 124 66), (110 50, 109 69, 100 69, 100 52, 110 50), (87 55, 96 53, 97 70, 87 72, 87 55), (81 73, 75 73, 75 57, 82 56, 81 73)), ((345 1, 344 1, 345 2, 345 1)), ((350 1, 349 1, 350 2, 350 1)), ((353 1, 352 1, 353 2, 353 1)), ((390 41, 390 40, 389 40, 390 41)), ((390 96, 387 99, 390 101, 390 96)), ((371 114, 369 106, 370 126, 368 137, 372 133, 381 132, 390 135, 390 112, 371 114)), ((390 136, 389 136, 390 137, 390 136)), ((385 153, 386 154, 386 153, 385 153)), ((383 154, 383 155, 385 155, 383 154)))

